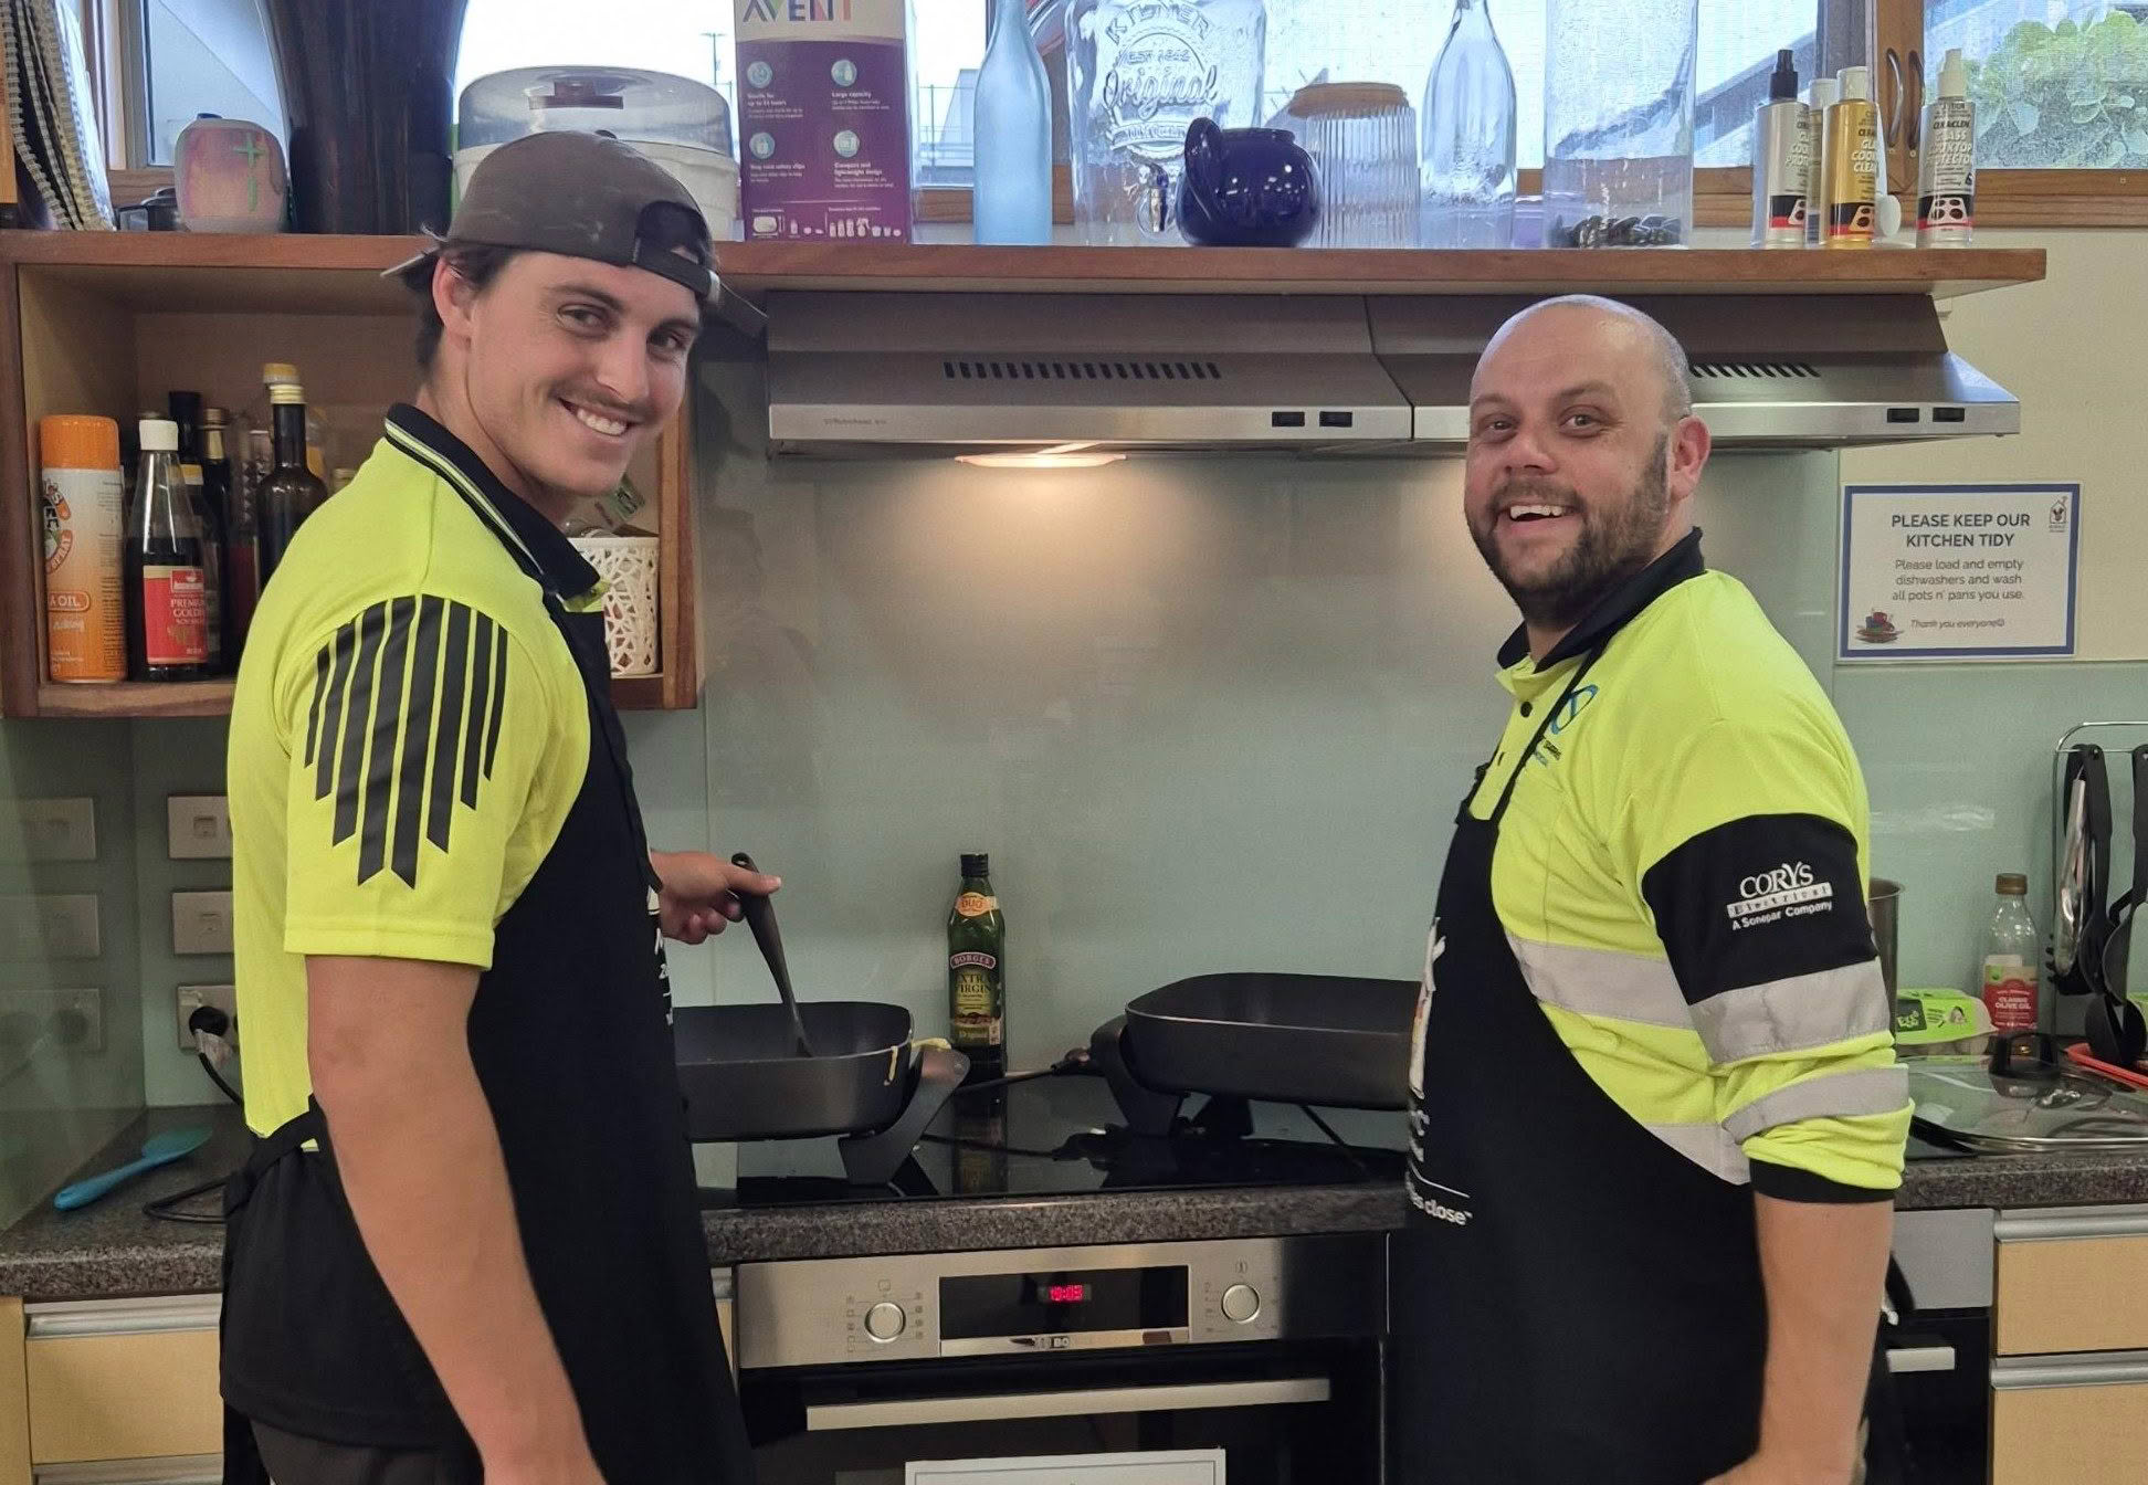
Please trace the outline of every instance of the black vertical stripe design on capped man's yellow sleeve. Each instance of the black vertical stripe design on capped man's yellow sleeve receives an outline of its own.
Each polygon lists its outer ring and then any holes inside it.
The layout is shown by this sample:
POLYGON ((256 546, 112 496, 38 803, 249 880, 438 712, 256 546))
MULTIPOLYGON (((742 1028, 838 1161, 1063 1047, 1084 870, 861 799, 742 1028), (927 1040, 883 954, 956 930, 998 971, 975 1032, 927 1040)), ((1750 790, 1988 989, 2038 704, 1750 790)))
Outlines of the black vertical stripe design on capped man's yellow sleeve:
POLYGON ((305 763, 335 802, 333 842, 359 840, 359 885, 417 885, 419 838, 447 851, 455 799, 477 808, 507 713, 507 630, 415 593, 374 604, 314 658, 305 763))

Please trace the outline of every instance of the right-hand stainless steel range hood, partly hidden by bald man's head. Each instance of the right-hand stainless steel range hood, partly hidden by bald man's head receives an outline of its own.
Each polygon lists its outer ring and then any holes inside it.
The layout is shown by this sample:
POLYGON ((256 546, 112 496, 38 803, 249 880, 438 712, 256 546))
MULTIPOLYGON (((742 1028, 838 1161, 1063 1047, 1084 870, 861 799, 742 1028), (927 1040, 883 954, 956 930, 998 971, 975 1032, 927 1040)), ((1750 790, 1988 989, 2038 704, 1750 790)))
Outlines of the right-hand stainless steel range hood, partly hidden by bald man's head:
MULTIPOLYGON (((1373 299, 1373 348, 1418 447, 1469 436, 1478 352, 1527 299, 1373 299)), ((1632 299, 1686 348, 1716 445, 1822 447, 2021 432, 2021 404, 1946 348, 1922 294, 1632 299)))

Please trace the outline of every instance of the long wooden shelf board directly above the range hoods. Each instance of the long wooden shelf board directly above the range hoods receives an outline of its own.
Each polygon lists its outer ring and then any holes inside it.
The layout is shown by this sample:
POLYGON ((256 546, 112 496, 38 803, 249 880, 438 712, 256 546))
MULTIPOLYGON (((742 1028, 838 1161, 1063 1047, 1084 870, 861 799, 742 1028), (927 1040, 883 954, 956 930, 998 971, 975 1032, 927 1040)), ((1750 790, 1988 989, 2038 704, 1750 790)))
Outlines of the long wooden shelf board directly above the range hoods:
POLYGON ((1029 294, 1931 294, 2043 279, 2041 247, 1540 251, 1267 247, 904 247, 720 243, 737 292, 900 290, 1029 294))

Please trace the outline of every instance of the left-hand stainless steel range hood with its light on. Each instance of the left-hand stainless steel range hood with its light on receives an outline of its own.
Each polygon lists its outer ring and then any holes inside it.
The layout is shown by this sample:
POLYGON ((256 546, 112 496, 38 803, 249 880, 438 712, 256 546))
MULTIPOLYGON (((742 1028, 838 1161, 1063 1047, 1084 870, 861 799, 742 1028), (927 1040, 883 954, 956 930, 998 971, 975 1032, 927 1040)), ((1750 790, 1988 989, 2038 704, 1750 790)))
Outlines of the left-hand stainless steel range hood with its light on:
POLYGON ((1362 299, 771 294, 778 453, 1407 445, 1362 299))

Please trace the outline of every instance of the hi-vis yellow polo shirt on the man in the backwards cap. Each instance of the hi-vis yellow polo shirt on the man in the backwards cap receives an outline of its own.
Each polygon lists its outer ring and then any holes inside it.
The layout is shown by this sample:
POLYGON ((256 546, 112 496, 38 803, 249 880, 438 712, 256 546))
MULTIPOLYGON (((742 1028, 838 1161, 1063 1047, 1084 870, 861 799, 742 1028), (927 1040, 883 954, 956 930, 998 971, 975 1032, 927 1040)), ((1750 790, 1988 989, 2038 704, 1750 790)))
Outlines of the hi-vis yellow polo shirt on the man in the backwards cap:
MULTIPOLYGON (((505 542, 595 572, 397 406, 262 593, 232 701, 232 931, 247 1124, 305 1111, 305 956, 492 965, 589 772, 589 703, 505 542)), ((584 587, 586 582, 586 587, 584 587)))

